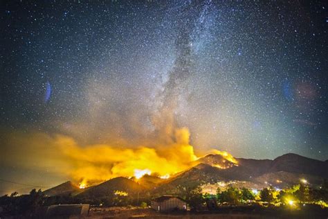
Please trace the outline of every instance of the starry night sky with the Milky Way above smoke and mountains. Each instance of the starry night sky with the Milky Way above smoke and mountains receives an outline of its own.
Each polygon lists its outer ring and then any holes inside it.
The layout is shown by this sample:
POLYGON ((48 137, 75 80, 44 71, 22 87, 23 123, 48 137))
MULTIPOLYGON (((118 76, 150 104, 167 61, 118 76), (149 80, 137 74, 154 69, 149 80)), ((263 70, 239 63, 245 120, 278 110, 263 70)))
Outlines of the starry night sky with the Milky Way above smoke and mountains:
MULTIPOLYGON (((196 152, 326 160, 327 7, 1 1, 0 150, 37 134, 152 147, 185 127, 196 152)), ((1 178, 18 180, 9 163, 1 178)))

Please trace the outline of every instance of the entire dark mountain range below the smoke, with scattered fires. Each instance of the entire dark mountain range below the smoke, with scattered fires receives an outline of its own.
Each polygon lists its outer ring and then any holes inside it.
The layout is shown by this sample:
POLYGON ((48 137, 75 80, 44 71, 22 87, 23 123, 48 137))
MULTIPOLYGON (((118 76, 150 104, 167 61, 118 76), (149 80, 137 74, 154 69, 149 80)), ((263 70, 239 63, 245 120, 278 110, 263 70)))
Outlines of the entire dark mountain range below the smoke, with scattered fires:
POLYGON ((136 195, 149 191, 152 195, 176 194, 182 187, 230 183, 236 187, 262 189, 268 185, 284 188, 307 179, 313 186, 328 179, 328 161, 319 161, 295 154, 276 159, 232 158, 231 155, 206 155, 198 159, 192 168, 176 173, 169 179, 144 175, 140 179, 117 177, 107 182, 79 189, 65 182, 44 191, 46 195, 77 195, 78 197, 102 198, 112 195, 136 195))

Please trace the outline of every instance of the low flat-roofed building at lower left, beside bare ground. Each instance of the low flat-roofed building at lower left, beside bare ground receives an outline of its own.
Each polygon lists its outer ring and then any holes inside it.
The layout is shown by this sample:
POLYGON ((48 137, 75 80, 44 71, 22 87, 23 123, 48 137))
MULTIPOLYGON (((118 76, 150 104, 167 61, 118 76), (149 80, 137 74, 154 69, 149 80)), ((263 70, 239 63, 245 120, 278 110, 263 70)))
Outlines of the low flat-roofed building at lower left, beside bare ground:
POLYGON ((55 204, 46 210, 46 218, 85 217, 89 214, 90 204, 55 204))

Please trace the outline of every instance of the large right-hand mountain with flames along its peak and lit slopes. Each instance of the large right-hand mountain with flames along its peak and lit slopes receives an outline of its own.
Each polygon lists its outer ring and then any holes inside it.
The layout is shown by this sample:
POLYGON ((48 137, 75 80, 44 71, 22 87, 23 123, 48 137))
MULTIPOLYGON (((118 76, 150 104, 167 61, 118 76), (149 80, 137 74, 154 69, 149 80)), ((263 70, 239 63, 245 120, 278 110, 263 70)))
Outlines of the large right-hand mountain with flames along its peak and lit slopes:
POLYGON ((327 161, 319 161, 295 154, 276 159, 236 158, 237 163, 224 161, 222 155, 207 155, 194 166, 161 184, 156 192, 176 193, 179 186, 193 187, 217 182, 234 182, 234 186, 262 189, 272 185, 279 188, 298 184, 307 179, 313 185, 322 184, 328 178, 327 161))

